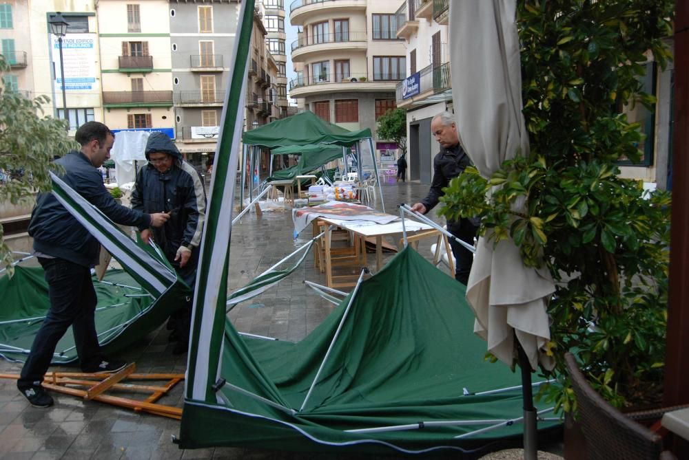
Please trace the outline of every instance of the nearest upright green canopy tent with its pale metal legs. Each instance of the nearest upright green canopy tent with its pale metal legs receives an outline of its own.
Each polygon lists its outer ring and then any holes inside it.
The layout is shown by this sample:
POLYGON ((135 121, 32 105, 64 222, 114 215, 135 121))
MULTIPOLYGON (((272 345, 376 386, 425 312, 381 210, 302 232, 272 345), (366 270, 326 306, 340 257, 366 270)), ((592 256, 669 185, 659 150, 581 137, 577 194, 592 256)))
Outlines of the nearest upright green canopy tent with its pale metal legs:
MULTIPOLYGON (((342 155, 346 153, 346 147, 354 147, 356 151, 356 164, 358 165, 359 179, 362 179, 362 143, 370 153, 373 166, 373 174, 378 177, 378 164, 376 162, 376 150, 373 147, 373 137, 370 129, 359 131, 348 131, 336 124, 322 120, 311 111, 304 111, 296 115, 275 120, 269 124, 264 124, 251 131, 243 133, 242 142, 244 146, 243 162, 241 166, 242 186, 240 187, 240 203, 244 200, 244 186, 246 179, 247 160, 249 161, 249 171, 254 171, 258 159, 258 151, 261 147, 276 149, 286 146, 305 146, 309 144, 333 144, 342 147, 342 155)), ((345 162, 345 165, 347 162, 345 162)), ((252 174, 253 175, 253 174, 252 174)), ((380 181, 378 188, 382 208, 385 204, 382 201, 382 190, 380 181)), ((249 187, 249 197, 253 197, 254 187, 249 187)))

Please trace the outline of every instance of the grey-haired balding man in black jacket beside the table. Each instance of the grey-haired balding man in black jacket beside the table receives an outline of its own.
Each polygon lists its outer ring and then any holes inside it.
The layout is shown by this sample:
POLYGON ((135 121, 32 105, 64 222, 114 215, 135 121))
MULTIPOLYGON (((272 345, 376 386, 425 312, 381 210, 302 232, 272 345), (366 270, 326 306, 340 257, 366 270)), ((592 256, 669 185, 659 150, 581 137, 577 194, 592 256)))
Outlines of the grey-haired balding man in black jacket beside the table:
MULTIPOLYGON (((469 156, 460 146, 460 139, 457 136, 457 127, 452 113, 442 112, 431 120, 431 133, 435 140, 440 143, 440 152, 433 159, 433 182, 431 190, 420 203, 411 208, 415 211, 426 214, 438 204, 438 201, 451 179, 464 172, 466 166, 471 164, 469 156)), ((478 227, 473 219, 460 218, 458 221, 447 221, 447 230, 462 241, 473 245, 478 227)), ((473 254, 457 241, 450 239, 452 254, 455 256, 455 279, 466 285, 469 281, 469 272, 473 263, 473 254)))

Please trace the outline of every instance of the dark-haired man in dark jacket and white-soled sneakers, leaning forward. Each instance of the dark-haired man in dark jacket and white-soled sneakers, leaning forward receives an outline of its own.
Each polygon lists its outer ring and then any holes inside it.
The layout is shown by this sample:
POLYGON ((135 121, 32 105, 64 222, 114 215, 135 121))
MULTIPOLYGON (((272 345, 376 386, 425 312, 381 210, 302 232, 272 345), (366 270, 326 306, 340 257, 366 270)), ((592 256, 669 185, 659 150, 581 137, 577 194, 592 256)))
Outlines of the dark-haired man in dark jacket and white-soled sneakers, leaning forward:
MULTIPOLYGON (((169 216, 147 215, 115 202, 103 186, 98 168, 110 157, 114 134, 105 124, 88 122, 76 131, 81 151, 70 151, 56 160, 64 168, 63 181, 88 199, 116 223, 161 226, 169 216)), ((79 364, 84 372, 119 371, 125 362, 106 360, 96 336, 96 292, 91 267, 98 263, 100 243, 62 206, 52 193, 41 193, 31 213, 29 234, 34 255, 45 270, 50 309, 34 339, 17 388, 32 406, 52 406, 53 400, 41 382, 48 371, 57 342, 72 326, 79 364)))

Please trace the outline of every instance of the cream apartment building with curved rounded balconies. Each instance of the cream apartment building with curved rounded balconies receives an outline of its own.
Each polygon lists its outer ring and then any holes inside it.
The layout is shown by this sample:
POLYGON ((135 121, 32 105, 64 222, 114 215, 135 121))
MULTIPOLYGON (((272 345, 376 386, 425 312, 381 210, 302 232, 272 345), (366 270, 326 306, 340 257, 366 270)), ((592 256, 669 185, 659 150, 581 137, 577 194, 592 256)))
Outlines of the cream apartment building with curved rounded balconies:
POLYGON ((407 76, 398 38, 398 4, 373 0, 295 0, 289 19, 300 26, 290 44, 297 78, 290 96, 346 129, 369 128, 378 159, 395 161, 396 145, 378 138, 376 120, 395 107, 395 87, 407 76))

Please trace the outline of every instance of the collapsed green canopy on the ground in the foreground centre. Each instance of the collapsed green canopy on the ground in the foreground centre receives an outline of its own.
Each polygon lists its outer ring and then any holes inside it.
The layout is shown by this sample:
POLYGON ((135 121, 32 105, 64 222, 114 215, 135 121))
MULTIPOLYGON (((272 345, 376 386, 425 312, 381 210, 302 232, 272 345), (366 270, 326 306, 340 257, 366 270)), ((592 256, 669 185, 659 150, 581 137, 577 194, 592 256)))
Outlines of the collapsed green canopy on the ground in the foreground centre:
POLYGON ((181 447, 422 454, 519 437, 520 377, 484 360, 464 295, 407 248, 301 342, 243 338, 226 320, 220 389, 185 399, 181 447))

